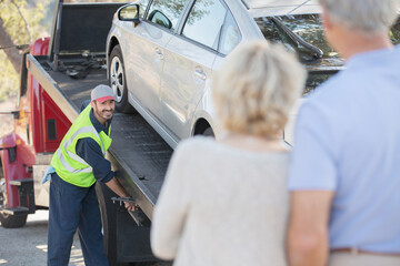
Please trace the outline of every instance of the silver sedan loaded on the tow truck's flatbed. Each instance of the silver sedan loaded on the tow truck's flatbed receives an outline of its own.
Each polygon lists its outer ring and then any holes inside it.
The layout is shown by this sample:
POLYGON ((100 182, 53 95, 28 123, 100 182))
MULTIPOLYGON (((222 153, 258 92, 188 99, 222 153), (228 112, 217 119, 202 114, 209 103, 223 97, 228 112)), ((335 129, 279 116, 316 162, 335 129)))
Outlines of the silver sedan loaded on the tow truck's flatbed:
POLYGON ((319 12, 317 0, 129 3, 107 39, 117 109, 139 112, 172 147, 197 134, 218 137, 211 76, 240 42, 267 39, 296 51, 310 73, 304 94, 342 66, 323 40, 319 12))

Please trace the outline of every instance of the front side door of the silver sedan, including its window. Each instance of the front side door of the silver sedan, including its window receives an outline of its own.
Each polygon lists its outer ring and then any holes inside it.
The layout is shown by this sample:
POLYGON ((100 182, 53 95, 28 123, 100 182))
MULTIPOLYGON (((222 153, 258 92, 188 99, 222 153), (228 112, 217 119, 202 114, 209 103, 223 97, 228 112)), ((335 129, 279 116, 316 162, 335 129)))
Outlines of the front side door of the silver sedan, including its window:
POLYGON ((171 40, 183 10, 181 0, 153 0, 140 24, 127 32, 127 83, 144 112, 161 119, 160 75, 164 47, 171 40), (128 61, 128 62, 127 62, 128 61))

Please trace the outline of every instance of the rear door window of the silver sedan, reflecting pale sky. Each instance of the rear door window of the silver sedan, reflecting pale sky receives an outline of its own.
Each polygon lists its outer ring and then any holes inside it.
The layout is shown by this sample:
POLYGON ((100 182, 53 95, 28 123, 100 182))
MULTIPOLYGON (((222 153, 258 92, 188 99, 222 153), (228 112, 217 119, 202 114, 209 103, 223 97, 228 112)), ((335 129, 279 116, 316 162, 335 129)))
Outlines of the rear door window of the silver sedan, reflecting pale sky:
POLYGON ((197 0, 182 35, 217 50, 226 13, 227 9, 219 0, 197 0))

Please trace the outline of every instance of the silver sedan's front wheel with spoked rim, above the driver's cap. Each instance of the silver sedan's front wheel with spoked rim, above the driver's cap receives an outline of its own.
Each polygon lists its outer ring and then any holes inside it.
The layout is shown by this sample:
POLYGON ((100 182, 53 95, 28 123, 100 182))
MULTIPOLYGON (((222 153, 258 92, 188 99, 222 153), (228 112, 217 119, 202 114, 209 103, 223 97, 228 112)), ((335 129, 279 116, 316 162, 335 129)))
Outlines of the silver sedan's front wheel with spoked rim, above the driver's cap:
POLYGON ((128 86, 120 45, 116 45, 110 54, 109 80, 116 95, 116 109, 122 113, 134 112, 128 101, 128 86))

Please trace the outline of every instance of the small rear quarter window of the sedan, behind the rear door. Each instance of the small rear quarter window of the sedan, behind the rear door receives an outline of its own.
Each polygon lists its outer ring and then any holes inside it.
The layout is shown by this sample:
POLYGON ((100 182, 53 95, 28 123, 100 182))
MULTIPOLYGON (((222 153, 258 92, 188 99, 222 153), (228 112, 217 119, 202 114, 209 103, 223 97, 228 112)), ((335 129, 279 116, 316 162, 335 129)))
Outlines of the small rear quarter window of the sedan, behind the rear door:
POLYGON ((234 22, 234 19, 231 12, 227 12, 227 18, 222 27, 221 40, 219 44, 219 52, 222 54, 228 54, 230 51, 238 45, 241 40, 240 30, 238 24, 234 22))

